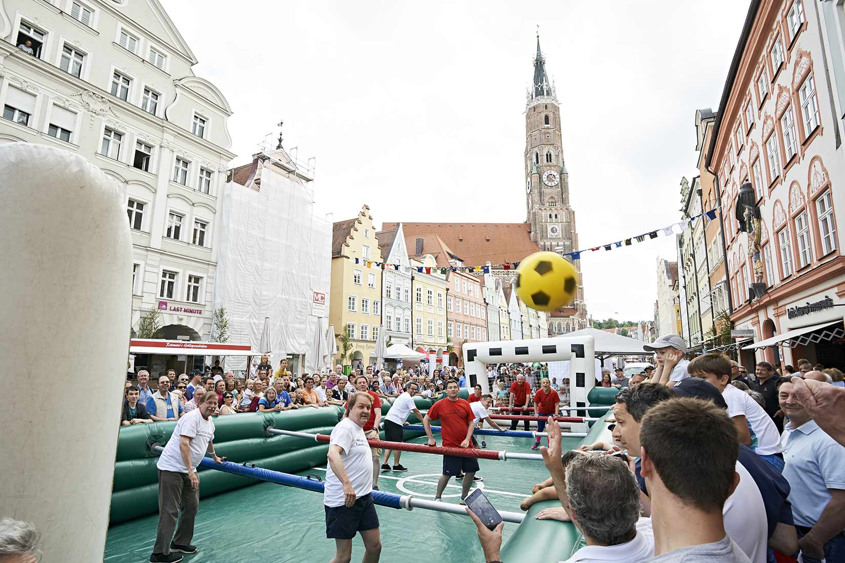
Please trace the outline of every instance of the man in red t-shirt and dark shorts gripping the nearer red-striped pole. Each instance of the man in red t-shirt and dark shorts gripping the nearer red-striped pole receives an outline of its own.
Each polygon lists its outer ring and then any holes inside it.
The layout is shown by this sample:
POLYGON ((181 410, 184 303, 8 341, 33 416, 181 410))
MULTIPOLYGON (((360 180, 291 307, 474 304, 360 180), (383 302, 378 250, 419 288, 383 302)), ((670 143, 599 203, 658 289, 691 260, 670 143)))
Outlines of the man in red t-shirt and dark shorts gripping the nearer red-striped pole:
MULTIPOLYGON (((429 446, 437 446, 437 441, 431 433, 431 421, 440 420, 443 447, 470 447, 472 430, 475 428, 475 415, 472 414, 470 403, 458 398, 458 389, 458 382, 451 379, 446 384, 446 397, 434 403, 423 418, 429 446)), ((434 500, 440 500, 440 495, 443 495, 450 477, 464 474, 464 480, 461 483, 461 504, 465 504, 464 499, 470 492, 472 478, 475 477, 477 470, 478 460, 475 457, 444 456, 443 474, 437 482, 437 495, 434 496, 434 500)))

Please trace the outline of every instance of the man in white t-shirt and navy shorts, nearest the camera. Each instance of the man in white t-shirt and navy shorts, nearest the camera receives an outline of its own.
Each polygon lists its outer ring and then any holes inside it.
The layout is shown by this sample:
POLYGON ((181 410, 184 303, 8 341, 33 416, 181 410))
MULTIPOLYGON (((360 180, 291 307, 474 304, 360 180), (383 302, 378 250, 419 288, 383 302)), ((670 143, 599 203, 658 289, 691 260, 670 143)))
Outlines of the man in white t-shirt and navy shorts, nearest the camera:
POLYGON ((373 463, 367 424, 373 398, 368 392, 354 392, 346 402, 343 419, 331 431, 329 468, 326 470, 323 505, 325 535, 335 539, 333 561, 352 558, 352 539, 360 532, 365 561, 378 561, 381 555, 379 515, 373 502, 373 463))

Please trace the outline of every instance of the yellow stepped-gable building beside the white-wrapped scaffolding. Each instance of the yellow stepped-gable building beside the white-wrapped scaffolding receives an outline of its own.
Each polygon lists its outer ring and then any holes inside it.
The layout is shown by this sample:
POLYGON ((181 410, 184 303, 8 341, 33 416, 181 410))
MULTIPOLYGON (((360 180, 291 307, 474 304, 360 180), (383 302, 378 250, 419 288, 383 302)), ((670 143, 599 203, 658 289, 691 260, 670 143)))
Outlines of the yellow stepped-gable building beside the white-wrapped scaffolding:
POLYGON ((329 318, 338 349, 334 364, 341 363, 346 331, 350 346, 343 365, 366 366, 375 361, 381 326, 381 268, 376 266, 381 254, 369 207, 364 205, 354 219, 335 223, 331 243, 329 318))

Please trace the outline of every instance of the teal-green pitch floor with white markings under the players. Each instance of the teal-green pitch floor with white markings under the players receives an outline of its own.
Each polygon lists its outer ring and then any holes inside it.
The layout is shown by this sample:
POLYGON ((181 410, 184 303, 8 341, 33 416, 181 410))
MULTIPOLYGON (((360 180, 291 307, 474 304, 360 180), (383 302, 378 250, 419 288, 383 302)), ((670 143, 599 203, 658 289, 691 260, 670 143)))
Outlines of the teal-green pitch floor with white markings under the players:
MULTIPOLYGON (((481 436, 478 436, 481 437, 481 436)), ((488 449, 531 452, 530 438, 487 436, 488 449)), ((413 440, 424 443, 423 437, 413 440)), ((581 438, 564 435, 564 450, 577 447, 581 438)), ((537 450, 539 452, 539 450, 537 450)), ((379 489, 398 495, 412 494, 432 499, 442 457, 404 452, 402 465, 407 473, 383 473, 379 489)), ((520 502, 531 494, 532 486, 548 478, 540 461, 497 462, 479 460, 484 478, 479 485, 499 510, 521 512, 520 502)), ((301 474, 325 476, 325 465, 301 474)), ((454 479, 444 493, 444 501, 457 504, 460 483, 454 479)), ((399 563, 431 561, 482 561, 475 526, 469 517, 423 509, 395 510, 378 506, 381 523, 381 560, 399 563)), ((157 515, 124 522, 109 529, 106 558, 109 563, 141 563, 150 559, 155 543, 157 515)), ((517 524, 505 522, 504 541, 517 524)), ((195 555, 186 563, 252 563, 329 561, 335 555, 335 542, 325 537, 323 496, 283 485, 260 483, 244 489, 203 499, 195 524, 195 555)), ((361 560, 363 543, 358 537, 352 560, 361 560)))

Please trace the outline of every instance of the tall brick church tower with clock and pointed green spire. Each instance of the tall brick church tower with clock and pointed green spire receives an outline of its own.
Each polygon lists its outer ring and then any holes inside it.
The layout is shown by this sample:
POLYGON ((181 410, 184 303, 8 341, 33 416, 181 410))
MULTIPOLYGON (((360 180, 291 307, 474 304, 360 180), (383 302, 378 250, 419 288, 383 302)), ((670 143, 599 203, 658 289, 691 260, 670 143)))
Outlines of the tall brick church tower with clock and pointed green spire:
MULTIPOLYGON (((527 92, 525 165, 526 223, 531 225, 532 241, 544 251, 565 253, 578 250, 575 211, 570 207, 570 177, 564 164, 560 106, 554 83, 546 73, 546 57, 540 50, 540 35, 537 35, 534 78, 527 92)), ((579 275, 572 305, 576 318, 567 319, 568 322, 562 326, 577 330, 586 328, 586 304, 581 284, 581 262, 575 260, 573 263, 579 275)), ((553 321, 558 320, 550 319, 550 333, 553 321)))

